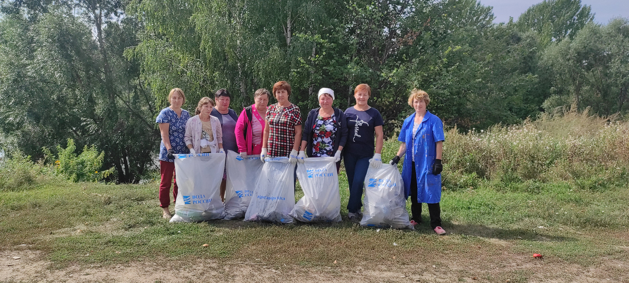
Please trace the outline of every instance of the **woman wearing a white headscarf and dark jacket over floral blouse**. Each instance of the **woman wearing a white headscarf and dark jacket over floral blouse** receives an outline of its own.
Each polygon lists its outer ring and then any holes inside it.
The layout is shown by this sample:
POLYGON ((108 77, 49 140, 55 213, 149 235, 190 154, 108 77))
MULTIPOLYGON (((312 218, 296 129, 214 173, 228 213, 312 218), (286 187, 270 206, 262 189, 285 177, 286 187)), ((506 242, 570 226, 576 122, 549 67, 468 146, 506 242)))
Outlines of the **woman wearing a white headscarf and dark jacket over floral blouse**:
POLYGON ((337 172, 341 166, 341 152, 347 142, 347 119, 345 113, 332 107, 334 91, 319 90, 320 108, 308 113, 306 126, 301 135, 301 150, 298 160, 308 157, 335 157, 337 172))

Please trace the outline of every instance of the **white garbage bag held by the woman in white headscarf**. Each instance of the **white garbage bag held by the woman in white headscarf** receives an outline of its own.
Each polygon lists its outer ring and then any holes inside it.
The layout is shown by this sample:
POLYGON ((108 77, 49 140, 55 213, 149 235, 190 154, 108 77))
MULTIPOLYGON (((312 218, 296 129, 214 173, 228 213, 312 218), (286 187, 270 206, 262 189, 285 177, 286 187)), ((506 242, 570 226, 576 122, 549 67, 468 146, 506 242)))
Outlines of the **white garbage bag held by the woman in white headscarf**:
POLYGON ((291 216, 302 222, 340 222, 341 196, 334 157, 306 158, 297 164, 297 177, 304 196, 291 216))

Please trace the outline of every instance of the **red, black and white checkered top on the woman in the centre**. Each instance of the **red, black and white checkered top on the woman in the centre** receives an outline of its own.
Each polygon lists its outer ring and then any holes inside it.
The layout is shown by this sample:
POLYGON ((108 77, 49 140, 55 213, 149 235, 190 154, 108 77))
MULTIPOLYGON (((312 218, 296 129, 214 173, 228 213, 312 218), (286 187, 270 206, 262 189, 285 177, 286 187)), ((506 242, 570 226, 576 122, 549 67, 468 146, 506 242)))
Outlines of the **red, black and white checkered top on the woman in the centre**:
POLYGON ((269 141, 267 154, 269 157, 288 157, 295 143, 295 126, 301 125, 299 107, 291 104, 286 108, 273 104, 267 109, 269 123, 269 141))

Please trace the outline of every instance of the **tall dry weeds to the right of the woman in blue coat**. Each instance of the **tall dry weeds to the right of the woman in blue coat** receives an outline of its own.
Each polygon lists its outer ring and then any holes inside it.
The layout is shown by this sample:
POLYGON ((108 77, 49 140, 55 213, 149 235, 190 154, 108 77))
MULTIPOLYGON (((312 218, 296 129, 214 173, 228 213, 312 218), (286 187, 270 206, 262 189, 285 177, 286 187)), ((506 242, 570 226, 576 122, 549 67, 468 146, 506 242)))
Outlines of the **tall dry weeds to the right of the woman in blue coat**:
POLYGON ((444 143, 444 186, 473 187, 486 179, 601 189, 629 182, 629 123, 614 120, 563 111, 487 131, 453 128, 444 143))

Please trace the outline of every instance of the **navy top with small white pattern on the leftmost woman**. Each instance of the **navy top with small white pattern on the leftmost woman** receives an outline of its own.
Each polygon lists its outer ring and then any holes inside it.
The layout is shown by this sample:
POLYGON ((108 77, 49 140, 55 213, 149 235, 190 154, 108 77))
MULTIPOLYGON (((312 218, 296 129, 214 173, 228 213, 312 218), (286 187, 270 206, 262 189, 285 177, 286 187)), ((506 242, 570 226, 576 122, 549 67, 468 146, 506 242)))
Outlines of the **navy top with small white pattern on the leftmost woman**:
MULTIPOLYGON (((175 154, 189 153, 186 143, 184 143, 184 134, 186 133, 186 122, 188 119, 190 119, 190 113, 188 113, 188 111, 181 109, 181 116, 179 116, 173 109, 170 109, 170 107, 162 109, 155 119, 155 123, 169 124, 168 138, 170 147, 175 151, 175 154)), ((168 158, 167 153, 168 150, 166 150, 164 141, 162 141, 159 147, 159 160, 175 162, 174 159, 168 158)))

